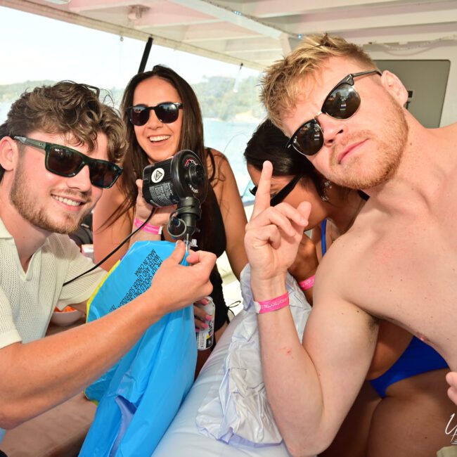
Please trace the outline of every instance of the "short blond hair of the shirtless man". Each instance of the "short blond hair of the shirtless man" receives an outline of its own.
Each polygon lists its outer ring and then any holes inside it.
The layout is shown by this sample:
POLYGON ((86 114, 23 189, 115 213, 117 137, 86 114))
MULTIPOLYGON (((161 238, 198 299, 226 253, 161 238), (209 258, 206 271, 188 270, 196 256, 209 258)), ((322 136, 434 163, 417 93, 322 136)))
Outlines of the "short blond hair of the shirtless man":
POLYGON ((282 129, 281 114, 291 110, 300 94, 300 81, 323 66, 330 57, 346 57, 369 69, 377 69, 371 57, 353 43, 328 34, 311 34, 297 49, 277 60, 262 77, 260 99, 273 124, 282 129))

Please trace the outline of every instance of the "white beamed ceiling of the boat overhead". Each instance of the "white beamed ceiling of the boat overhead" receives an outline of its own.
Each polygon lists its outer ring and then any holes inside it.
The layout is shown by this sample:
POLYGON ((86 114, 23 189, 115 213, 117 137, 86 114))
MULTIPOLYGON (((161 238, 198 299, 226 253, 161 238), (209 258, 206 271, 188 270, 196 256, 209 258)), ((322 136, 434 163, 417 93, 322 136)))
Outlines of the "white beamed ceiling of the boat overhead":
POLYGON ((18 8, 247 67, 262 68, 312 32, 361 45, 457 41, 457 0, 0 0, 18 8))

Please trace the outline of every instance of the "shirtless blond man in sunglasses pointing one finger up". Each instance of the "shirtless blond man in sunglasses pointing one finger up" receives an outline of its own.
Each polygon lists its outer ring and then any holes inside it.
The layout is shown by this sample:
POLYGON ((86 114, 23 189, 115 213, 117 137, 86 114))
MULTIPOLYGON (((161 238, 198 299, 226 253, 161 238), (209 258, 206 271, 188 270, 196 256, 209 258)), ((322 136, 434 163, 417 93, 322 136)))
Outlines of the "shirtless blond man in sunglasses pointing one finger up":
MULTIPOLYGON (((307 37, 273 65, 262 95, 290 138, 290 154, 371 197, 319 265, 302 342, 294 337, 284 278, 310 208, 270 207, 269 162, 247 225, 266 390, 288 449, 309 456, 326 449, 354 402, 379 318, 457 368, 457 126, 425 129, 404 108, 407 92, 395 75, 327 35, 307 37)), ((411 430, 395 455, 416 455, 416 442, 427 438, 413 433, 413 420, 411 430)), ((382 443, 368 455, 386 455, 382 443)))

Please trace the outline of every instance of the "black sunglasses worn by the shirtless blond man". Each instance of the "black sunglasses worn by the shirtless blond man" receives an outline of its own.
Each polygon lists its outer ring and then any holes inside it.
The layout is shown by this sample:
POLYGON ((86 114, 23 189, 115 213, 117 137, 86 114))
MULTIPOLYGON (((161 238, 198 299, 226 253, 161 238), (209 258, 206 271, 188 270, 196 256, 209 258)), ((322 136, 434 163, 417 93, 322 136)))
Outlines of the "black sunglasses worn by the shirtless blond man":
POLYGON ((354 89, 354 78, 374 73, 382 75, 378 70, 371 70, 369 72, 352 73, 343 78, 328 93, 328 96, 323 101, 321 111, 313 119, 304 122, 298 127, 295 134, 290 137, 286 148, 292 146, 303 155, 317 154, 323 146, 323 130, 317 120, 318 115, 326 114, 333 117, 333 119, 339 120, 346 120, 352 117, 360 106, 360 96, 354 89))

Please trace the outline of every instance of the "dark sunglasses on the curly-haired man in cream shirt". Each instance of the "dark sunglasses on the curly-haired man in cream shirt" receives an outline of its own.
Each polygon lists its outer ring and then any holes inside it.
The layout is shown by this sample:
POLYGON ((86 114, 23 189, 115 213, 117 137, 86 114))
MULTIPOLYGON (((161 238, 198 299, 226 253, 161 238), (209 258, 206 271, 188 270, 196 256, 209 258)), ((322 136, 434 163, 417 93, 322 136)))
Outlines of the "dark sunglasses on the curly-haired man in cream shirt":
POLYGON ((76 176, 87 165, 91 184, 107 189, 115 184, 122 173, 122 168, 115 163, 108 162, 108 160, 92 159, 78 150, 67 148, 67 146, 46 143, 45 141, 34 140, 25 136, 13 136, 13 139, 26 146, 44 150, 46 153, 44 160, 46 169, 59 176, 71 178, 76 176))

